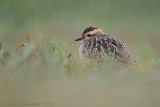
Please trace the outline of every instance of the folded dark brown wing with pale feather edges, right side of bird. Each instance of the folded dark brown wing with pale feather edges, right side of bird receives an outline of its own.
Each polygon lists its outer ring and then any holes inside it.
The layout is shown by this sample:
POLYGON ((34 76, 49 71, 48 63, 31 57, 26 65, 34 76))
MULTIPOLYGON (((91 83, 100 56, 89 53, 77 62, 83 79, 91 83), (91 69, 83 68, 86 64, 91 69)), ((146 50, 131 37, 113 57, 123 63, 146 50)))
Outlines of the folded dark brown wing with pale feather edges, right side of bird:
POLYGON ((103 34, 102 37, 104 40, 102 46, 107 54, 111 52, 111 56, 114 56, 121 63, 136 62, 132 59, 132 55, 127 47, 119 39, 106 34, 103 34))

